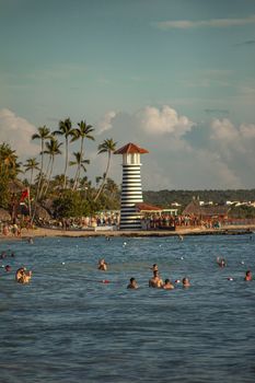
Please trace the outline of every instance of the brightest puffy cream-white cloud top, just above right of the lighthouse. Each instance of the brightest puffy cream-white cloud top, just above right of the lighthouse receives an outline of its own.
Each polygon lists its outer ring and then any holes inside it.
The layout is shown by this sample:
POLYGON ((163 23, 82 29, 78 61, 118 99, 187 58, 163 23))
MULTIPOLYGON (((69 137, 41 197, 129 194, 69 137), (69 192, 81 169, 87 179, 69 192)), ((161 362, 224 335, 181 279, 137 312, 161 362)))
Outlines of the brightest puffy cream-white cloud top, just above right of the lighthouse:
POLYGON ((147 106, 136 116, 141 129, 150 135, 172 134, 181 137, 195 125, 186 116, 178 116, 177 112, 167 105, 164 105, 162 109, 147 106))

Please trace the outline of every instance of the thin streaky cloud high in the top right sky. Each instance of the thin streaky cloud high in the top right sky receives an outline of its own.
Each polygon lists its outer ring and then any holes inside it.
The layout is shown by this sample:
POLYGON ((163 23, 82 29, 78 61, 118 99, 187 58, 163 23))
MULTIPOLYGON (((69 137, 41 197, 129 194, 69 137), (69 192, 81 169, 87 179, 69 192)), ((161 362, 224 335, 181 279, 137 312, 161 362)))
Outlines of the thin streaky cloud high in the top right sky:
POLYGON ((243 19, 211 19, 211 20, 178 20, 178 21, 162 21, 154 23, 160 30, 188 30, 197 27, 229 27, 229 26, 241 26, 246 24, 255 23, 255 14, 243 18, 243 19))

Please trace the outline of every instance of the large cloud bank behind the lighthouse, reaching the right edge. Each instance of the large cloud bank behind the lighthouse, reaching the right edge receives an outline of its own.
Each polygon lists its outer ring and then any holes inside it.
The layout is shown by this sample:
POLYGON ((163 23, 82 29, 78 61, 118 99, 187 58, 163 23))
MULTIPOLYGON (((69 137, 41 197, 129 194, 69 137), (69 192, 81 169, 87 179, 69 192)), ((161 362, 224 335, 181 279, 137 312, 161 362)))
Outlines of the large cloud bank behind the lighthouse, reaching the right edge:
MULTIPOLYGON (((235 126, 229 118, 195 124, 171 105, 146 106, 134 114, 116 113, 101 137, 118 147, 135 142, 142 155, 144 189, 255 187, 255 125, 235 126)), ((113 159, 111 176, 121 182, 120 158, 113 159)))

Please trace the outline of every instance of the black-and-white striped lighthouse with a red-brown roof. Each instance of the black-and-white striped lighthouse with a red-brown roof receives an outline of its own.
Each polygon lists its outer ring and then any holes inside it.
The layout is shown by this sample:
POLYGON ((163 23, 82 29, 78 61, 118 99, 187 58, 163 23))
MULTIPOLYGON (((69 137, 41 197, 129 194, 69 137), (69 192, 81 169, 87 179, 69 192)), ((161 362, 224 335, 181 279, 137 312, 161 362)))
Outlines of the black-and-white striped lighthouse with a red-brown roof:
POLYGON ((135 143, 127 143, 114 154, 123 154, 123 187, 120 230, 141 230, 141 218, 136 204, 142 202, 140 154, 149 153, 135 143))

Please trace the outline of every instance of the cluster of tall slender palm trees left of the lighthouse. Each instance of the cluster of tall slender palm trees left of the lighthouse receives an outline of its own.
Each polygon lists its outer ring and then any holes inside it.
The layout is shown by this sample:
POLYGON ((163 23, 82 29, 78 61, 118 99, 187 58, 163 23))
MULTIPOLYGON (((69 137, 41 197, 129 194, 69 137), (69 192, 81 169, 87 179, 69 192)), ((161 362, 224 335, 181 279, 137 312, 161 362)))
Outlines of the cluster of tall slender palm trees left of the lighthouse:
MULTIPOLYGON (((81 177, 82 172, 86 172, 86 165, 90 164, 90 160, 85 159, 85 141, 93 140, 94 128, 92 125, 86 124, 85 120, 81 120, 78 123, 76 128, 72 127, 72 123, 70 118, 66 118, 65 120, 60 120, 58 124, 58 129, 50 131, 46 126, 38 127, 37 132, 32 136, 32 140, 40 141, 40 163, 37 162, 36 158, 30 158, 26 160, 24 164, 25 172, 31 172, 28 184, 32 186, 34 179, 34 173, 38 171, 38 175, 36 181, 36 193, 35 193, 35 201, 43 199, 46 197, 51 177, 54 172, 55 159, 57 155, 62 154, 61 147, 65 144, 65 166, 62 176, 58 177, 58 181, 61 181, 61 188, 65 190, 67 188, 71 188, 72 190, 77 190, 80 188, 82 184, 82 179, 88 179, 86 177, 81 177), (57 137, 62 137, 63 142, 59 142, 57 137), (73 159, 69 161, 69 147, 70 143, 80 140, 80 150, 78 152, 73 152, 73 159), (48 158, 47 164, 46 159, 48 158), (68 166, 76 166, 74 177, 72 178, 72 183, 68 183, 67 172, 68 166)), ((107 181, 111 156, 112 153, 116 150, 116 142, 112 138, 105 139, 101 144, 98 144, 98 154, 107 153, 107 163, 106 169, 101 177, 101 185, 94 195, 94 201, 96 201, 102 194, 104 186, 107 181)), ((55 177, 55 179, 56 179, 55 177)))

